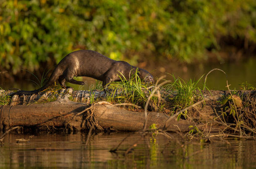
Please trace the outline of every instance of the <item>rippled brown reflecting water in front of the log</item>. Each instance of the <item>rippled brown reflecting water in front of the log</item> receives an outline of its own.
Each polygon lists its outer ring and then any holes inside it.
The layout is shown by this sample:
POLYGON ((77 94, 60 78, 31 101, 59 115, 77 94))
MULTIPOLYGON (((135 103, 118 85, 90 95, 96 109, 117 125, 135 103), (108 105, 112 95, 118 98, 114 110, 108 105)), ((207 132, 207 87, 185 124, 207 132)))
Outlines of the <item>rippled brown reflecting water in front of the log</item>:
POLYGON ((87 134, 9 134, 0 147, 0 168, 256 168, 256 141, 227 140, 203 144, 159 135, 156 141, 139 134, 117 132, 93 134, 87 148, 87 134), (117 153, 109 150, 130 135, 117 153), (139 141, 137 141, 139 140, 139 141), (148 144, 147 144, 148 142, 148 144), (137 144, 124 155, 125 150, 137 144), (150 147, 149 147, 149 146, 150 147))

